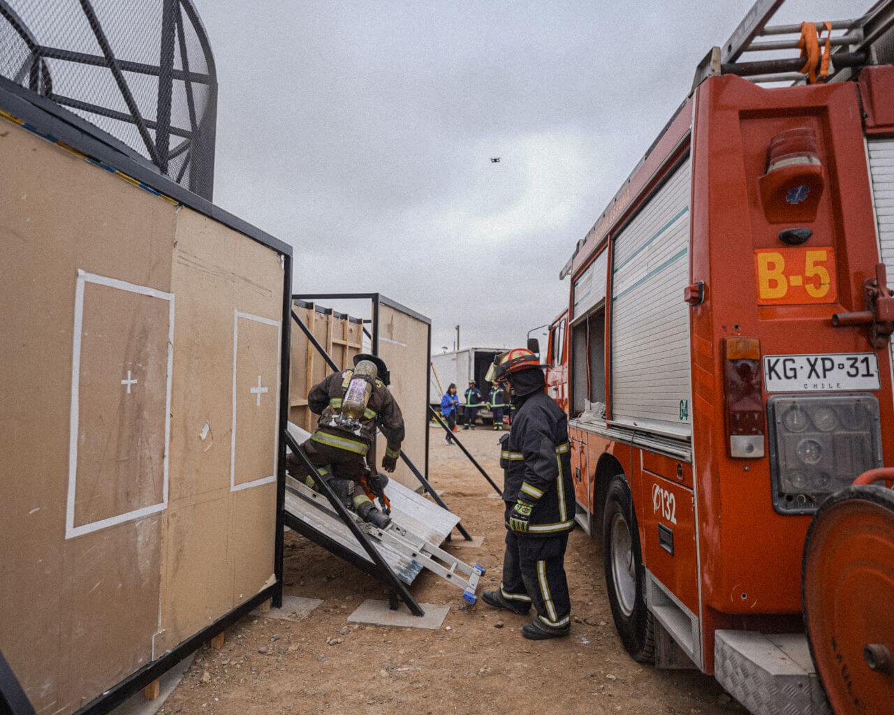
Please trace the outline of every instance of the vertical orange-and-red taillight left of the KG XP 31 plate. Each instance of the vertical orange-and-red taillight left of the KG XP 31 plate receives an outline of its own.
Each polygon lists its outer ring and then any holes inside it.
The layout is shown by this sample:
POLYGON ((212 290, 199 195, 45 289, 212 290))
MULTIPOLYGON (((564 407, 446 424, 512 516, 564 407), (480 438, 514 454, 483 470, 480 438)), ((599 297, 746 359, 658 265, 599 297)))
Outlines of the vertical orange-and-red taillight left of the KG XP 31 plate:
POLYGON ((757 338, 723 339, 723 382, 730 457, 763 457, 765 419, 761 393, 761 341, 757 338))

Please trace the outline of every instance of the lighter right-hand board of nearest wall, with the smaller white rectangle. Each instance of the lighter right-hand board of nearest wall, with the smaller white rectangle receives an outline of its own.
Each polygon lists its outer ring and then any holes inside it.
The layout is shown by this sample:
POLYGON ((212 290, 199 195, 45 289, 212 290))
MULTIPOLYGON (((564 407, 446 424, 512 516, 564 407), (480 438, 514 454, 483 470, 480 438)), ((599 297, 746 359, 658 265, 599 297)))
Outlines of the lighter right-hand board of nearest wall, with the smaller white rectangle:
POLYGON ((283 266, 272 251, 258 247, 258 253, 253 246, 207 216, 185 208, 178 214, 171 488, 159 636, 165 649, 221 618, 273 575, 275 503, 266 511, 240 510, 245 500, 237 497, 257 489, 275 501, 283 266), (239 543, 232 541, 234 523, 239 543), (234 581, 240 583, 236 595, 234 581))

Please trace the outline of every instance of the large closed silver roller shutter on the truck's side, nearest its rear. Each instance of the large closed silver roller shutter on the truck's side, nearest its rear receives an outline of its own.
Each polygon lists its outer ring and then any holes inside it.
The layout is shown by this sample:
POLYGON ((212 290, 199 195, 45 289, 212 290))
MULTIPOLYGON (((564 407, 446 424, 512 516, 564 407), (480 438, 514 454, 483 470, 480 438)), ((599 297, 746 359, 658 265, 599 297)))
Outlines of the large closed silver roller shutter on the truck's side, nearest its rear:
POLYGON ((615 240, 611 420, 681 437, 691 431, 687 159, 615 240))

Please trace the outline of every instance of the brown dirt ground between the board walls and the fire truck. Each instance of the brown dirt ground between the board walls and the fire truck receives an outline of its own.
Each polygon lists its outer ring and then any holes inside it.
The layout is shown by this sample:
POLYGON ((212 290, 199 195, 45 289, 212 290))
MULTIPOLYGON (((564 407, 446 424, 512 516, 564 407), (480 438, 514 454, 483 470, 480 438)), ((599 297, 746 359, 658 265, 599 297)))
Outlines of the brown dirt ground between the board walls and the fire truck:
MULTIPOLYGON (((431 436, 431 481, 469 533, 485 535, 480 549, 448 549, 485 566, 483 588, 493 588, 502 564, 502 502, 488 498, 493 489, 458 447, 443 444, 440 429, 431 436)), ((481 427, 460 432, 502 484, 497 436, 481 427)), ((521 637, 523 618, 480 600, 467 607, 459 590, 427 573, 412 593, 450 605, 441 630, 349 625, 362 601, 385 598, 382 586, 297 534, 286 534, 285 553, 285 593, 324 602, 297 623, 243 618, 226 632, 222 650, 198 652, 160 713, 745 712, 711 677, 628 658, 611 621, 600 549, 579 529, 566 557, 571 635, 545 642, 521 637)))

